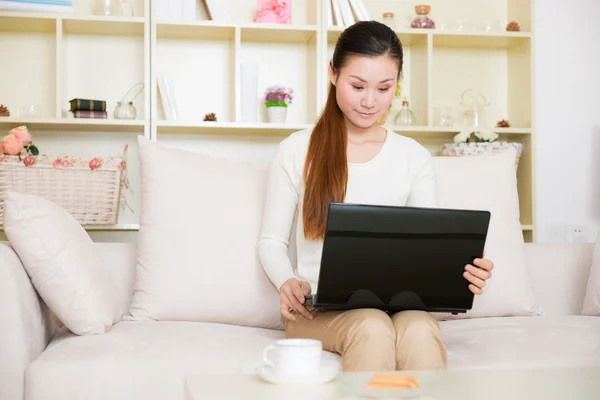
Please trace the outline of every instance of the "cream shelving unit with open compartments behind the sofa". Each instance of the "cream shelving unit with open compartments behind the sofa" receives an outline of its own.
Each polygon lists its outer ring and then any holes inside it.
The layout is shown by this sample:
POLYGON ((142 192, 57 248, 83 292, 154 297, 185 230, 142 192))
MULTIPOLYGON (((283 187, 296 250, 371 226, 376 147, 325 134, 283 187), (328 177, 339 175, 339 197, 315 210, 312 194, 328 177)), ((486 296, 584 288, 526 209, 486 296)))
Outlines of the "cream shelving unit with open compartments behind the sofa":
MULTIPOLYGON (((268 162, 285 136, 310 128, 327 96, 327 64, 343 28, 327 26, 327 0, 293 0, 292 24, 254 23, 256 0, 223 0, 231 21, 212 21, 200 7, 191 21, 156 18, 155 0, 135 3, 133 17, 93 14, 94 2, 75 3, 75 15, 0 12, 0 135, 25 124, 40 150, 57 155, 116 155, 129 144, 131 204, 116 226, 86 227, 118 235, 138 227, 139 171, 137 135, 172 147, 232 158, 268 162), (259 93, 273 84, 292 87, 295 99, 285 124, 241 122, 240 65, 258 64, 259 93), (156 77, 165 73, 177 100, 178 119, 166 120, 156 77), (144 82, 136 98, 136 120, 116 120, 112 111, 127 90, 144 82), (72 98, 106 100, 109 119, 67 118, 72 98), (21 106, 42 106, 39 117, 17 115, 21 106), (215 113, 216 122, 203 121, 215 113)), ((371 18, 394 12, 404 46, 402 95, 417 116, 417 126, 393 125, 401 100, 387 125, 416 138, 433 154, 461 128, 437 126, 440 107, 457 109, 460 94, 475 89, 491 102, 487 119, 511 128, 495 131, 501 140, 521 142, 518 169, 521 222, 527 241, 535 240, 534 98, 532 91, 533 0, 431 0, 432 18, 504 28, 518 21, 521 32, 411 29, 412 0, 363 0, 371 18)), ((493 125, 492 125, 493 126, 493 125)), ((106 233, 105 232, 105 233, 106 233)))

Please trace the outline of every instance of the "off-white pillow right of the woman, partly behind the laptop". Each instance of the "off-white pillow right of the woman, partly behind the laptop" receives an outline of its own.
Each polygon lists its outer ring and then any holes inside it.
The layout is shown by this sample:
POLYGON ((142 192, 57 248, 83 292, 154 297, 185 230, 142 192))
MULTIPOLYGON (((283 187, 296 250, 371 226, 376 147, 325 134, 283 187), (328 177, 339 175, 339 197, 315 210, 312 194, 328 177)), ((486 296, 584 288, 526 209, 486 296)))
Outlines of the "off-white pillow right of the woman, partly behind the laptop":
POLYGON ((485 257, 494 262, 484 293, 466 314, 438 319, 540 315, 526 264, 515 154, 434 157, 439 206, 488 210, 485 257))

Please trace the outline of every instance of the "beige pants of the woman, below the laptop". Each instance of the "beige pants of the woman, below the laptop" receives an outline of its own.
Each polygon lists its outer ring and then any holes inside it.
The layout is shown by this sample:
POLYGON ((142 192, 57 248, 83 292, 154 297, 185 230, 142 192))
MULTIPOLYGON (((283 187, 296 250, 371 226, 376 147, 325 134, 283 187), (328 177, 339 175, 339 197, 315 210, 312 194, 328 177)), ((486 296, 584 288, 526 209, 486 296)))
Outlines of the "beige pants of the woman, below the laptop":
POLYGON ((294 313, 296 320, 286 321, 286 337, 320 340, 324 350, 342 355, 346 372, 446 368, 438 322, 427 312, 390 315, 356 309, 312 314, 309 320, 294 313))

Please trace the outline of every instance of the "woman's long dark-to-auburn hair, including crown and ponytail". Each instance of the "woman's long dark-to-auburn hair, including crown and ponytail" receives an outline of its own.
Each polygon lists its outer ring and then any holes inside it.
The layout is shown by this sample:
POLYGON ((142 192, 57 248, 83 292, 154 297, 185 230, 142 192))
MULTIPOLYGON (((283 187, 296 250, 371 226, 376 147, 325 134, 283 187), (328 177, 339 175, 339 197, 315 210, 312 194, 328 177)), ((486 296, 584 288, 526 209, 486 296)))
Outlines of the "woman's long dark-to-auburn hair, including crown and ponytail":
MULTIPOLYGON (((387 55, 398 61, 398 78, 402 74, 402 43, 392 29, 380 22, 357 22, 342 32, 331 60, 333 72, 339 74, 348 59, 356 55, 387 55)), ((346 146, 344 115, 337 104, 335 85, 330 84, 327 103, 312 131, 304 164, 302 218, 307 239, 323 237, 329 203, 342 202, 346 197, 346 146)))

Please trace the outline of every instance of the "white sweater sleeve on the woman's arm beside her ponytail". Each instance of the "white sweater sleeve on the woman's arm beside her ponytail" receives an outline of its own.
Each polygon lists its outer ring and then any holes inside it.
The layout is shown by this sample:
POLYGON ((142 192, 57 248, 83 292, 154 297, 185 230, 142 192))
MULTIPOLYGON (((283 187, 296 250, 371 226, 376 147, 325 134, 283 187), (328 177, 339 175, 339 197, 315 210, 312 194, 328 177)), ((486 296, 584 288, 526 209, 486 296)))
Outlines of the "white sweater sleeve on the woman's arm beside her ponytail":
POLYGON ((288 256, 293 220, 298 206, 293 158, 289 143, 280 143, 268 172, 265 207, 258 243, 260 262, 277 290, 295 278, 288 256))

